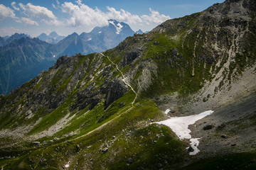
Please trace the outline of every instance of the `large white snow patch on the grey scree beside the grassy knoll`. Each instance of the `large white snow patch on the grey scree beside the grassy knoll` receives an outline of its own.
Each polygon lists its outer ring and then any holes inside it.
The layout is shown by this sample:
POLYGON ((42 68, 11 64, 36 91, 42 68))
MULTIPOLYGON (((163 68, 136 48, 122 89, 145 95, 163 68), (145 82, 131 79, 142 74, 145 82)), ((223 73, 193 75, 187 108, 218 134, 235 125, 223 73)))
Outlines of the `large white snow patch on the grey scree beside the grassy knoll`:
MULTIPOLYGON (((166 113, 167 109, 164 113, 166 113)), ((168 112, 167 112, 168 113, 168 112)), ((157 124, 166 125, 173 130, 180 140, 190 140, 191 147, 194 149, 191 155, 197 154, 200 150, 197 148, 200 138, 191 138, 189 134, 191 130, 188 129, 188 125, 193 125, 197 120, 200 120, 207 115, 212 114, 213 111, 205 111, 198 115, 188 115, 184 117, 173 117, 164 121, 156 122, 157 124)))

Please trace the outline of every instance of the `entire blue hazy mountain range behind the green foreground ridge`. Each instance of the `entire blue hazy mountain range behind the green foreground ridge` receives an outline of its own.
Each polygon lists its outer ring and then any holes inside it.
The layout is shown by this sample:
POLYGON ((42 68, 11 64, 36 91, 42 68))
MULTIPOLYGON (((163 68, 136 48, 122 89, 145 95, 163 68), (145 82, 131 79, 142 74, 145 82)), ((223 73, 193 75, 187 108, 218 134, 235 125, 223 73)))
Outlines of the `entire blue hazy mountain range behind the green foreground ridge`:
POLYGON ((62 55, 102 52, 134 35, 126 23, 114 20, 109 23, 109 26, 96 27, 90 33, 73 33, 66 38, 55 32, 50 35, 42 33, 39 40, 18 33, 6 40, 0 37, 0 94, 9 94, 12 89, 48 69, 62 55))

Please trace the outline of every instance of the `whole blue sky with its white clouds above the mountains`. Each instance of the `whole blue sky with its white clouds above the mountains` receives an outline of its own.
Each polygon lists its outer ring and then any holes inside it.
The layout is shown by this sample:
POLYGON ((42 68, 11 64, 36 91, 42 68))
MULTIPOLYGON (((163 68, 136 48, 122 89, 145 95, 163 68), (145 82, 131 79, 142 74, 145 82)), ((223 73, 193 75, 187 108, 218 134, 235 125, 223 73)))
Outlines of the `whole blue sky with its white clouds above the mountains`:
POLYGON ((90 32, 108 19, 128 23, 132 30, 151 30, 160 23, 203 11, 224 0, 1 0, 0 36, 32 37, 55 30, 59 35, 90 32))

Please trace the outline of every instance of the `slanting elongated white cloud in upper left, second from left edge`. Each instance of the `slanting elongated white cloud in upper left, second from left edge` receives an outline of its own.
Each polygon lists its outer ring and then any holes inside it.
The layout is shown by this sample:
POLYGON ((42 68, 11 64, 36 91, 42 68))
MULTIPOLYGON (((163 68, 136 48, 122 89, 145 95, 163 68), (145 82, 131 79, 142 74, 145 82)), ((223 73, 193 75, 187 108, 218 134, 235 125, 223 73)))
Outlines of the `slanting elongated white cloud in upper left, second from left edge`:
POLYGON ((56 19, 53 12, 43 6, 34 6, 31 3, 28 3, 26 5, 20 3, 18 5, 21 7, 24 13, 28 16, 35 17, 35 18, 56 19))

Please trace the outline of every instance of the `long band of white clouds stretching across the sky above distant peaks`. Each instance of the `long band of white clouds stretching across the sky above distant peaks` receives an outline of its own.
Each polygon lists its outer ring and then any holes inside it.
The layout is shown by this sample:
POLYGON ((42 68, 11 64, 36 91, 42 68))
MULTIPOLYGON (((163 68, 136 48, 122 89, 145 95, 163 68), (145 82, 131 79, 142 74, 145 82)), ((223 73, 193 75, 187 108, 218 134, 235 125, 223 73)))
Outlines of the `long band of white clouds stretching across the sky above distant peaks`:
POLYGON ((37 28, 48 26, 50 29, 55 29, 53 27, 83 28, 90 31, 96 26, 107 26, 108 20, 114 19, 129 24, 134 30, 139 28, 151 30, 171 18, 159 11, 154 11, 153 8, 149 8, 147 14, 137 15, 123 8, 117 9, 112 6, 105 6, 105 8, 101 6, 101 9, 97 6, 92 8, 81 0, 63 3, 56 0, 50 6, 49 4, 38 6, 33 3, 36 2, 24 4, 16 0, 10 2, 9 6, 0 4, 0 21, 11 19, 23 26, 36 26, 37 28))

